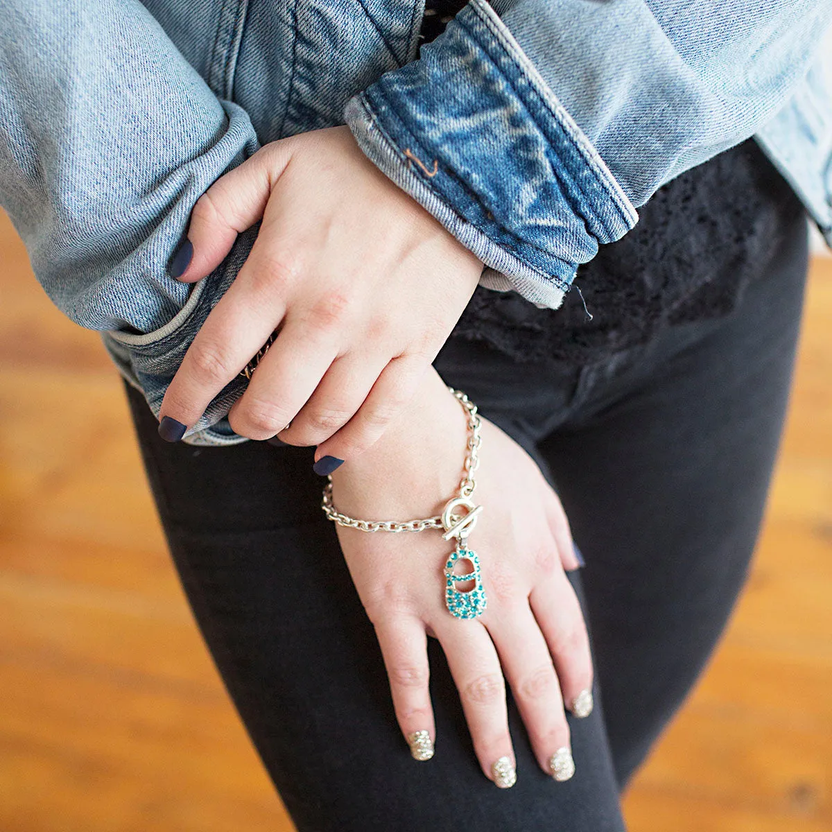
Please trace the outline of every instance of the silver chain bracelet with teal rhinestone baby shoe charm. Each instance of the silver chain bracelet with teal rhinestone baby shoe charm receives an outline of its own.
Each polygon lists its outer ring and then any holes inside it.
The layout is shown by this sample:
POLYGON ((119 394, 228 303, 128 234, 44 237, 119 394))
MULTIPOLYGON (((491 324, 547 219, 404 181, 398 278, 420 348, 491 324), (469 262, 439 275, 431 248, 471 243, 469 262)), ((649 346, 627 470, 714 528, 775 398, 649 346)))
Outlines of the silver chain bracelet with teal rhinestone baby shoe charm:
POLYGON ((482 506, 474 505, 471 499, 473 489, 477 486, 473 473, 479 468, 478 450, 483 442, 479 428, 482 420, 477 413, 477 405, 473 404, 468 396, 453 387, 448 387, 448 390, 462 404, 468 416, 468 444, 458 497, 449 499, 441 514, 419 520, 359 520, 348 517, 339 512, 332 503, 331 474, 327 475, 328 482, 324 485, 320 507, 329 520, 337 522, 339 526, 357 528, 361 532, 422 532, 426 528, 443 528, 445 531, 442 537, 445 540, 451 537, 456 538, 456 547, 443 568, 445 606, 448 607, 448 612, 457 618, 474 618, 482 614, 486 607, 479 558, 473 549, 468 548, 468 533, 477 524, 478 515, 483 510, 482 506), (456 513, 458 508, 466 508, 467 512, 456 513), (454 574, 453 568, 460 559, 468 560, 473 567, 473 572, 463 575, 454 574), (461 591, 455 586, 457 583, 468 581, 473 581, 473 587, 467 590, 461 591))

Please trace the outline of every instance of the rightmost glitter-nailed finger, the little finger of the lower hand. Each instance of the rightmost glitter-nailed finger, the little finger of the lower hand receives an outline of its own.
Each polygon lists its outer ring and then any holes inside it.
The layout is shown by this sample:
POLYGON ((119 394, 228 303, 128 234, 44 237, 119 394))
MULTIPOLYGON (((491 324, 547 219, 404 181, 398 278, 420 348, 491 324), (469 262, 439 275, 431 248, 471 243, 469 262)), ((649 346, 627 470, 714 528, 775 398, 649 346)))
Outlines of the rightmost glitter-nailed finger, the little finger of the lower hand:
POLYGON ((537 626, 552 653, 563 702, 574 716, 592 713, 592 652, 581 604, 566 575, 557 571, 529 595, 537 626))

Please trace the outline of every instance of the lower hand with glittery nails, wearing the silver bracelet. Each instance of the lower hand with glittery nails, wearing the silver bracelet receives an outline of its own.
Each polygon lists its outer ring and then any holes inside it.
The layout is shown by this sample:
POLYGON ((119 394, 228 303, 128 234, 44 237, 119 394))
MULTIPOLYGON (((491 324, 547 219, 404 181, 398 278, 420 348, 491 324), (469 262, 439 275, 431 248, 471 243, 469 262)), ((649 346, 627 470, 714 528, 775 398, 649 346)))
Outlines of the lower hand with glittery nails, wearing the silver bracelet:
MULTIPOLYGON (((505 676, 542 770, 567 780, 574 765, 563 703, 577 716, 592 709, 587 629, 563 571, 579 563, 560 501, 537 464, 480 415, 483 441, 472 498, 483 511, 469 540, 488 599, 479 617, 458 619, 445 607, 443 567, 453 541, 444 541, 439 530, 335 528, 379 638, 397 720, 414 756, 428 759, 435 735, 427 632, 448 658, 485 775, 502 787, 513 784, 505 676), (421 753, 418 735, 412 736, 418 731, 430 737, 421 753), (500 763, 502 758, 508 760, 500 763)), ((432 368, 414 407, 360 458, 332 474, 335 508, 370 520, 441 513, 457 494, 467 435, 462 407, 432 368)))

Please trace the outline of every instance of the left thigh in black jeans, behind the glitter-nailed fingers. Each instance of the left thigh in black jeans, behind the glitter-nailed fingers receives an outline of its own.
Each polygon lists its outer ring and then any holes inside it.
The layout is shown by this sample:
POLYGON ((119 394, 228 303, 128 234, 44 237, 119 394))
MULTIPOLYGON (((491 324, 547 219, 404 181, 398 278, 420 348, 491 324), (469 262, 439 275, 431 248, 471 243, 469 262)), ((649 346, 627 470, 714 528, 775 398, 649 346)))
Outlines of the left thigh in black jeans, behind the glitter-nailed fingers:
MULTIPOLYGON (((466 371, 498 359, 469 346, 461 357, 449 344, 439 361, 448 384, 466 392, 466 371)), ((490 374, 493 389, 499 382, 490 374)), ((538 767, 509 691, 518 780, 498 789, 479 768, 433 638, 436 752, 414 760, 373 626, 319 508, 324 479, 312 472, 314 448, 165 443, 141 394, 127 395, 196 621, 300 832, 624 829, 600 706, 584 720, 569 716, 577 772, 558 783, 538 767)), ((502 410, 493 399, 489 414, 508 414, 516 404, 509 399, 502 410)))

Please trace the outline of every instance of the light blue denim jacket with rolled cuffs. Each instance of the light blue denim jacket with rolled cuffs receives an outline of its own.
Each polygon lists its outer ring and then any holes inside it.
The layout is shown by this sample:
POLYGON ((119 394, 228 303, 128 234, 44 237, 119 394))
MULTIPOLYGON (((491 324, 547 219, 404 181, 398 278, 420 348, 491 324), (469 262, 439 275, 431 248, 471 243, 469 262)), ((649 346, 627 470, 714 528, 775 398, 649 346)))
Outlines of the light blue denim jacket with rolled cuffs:
MULTIPOLYGON (((830 0, 0 0, 0 205, 54 303, 158 414, 257 226, 195 285, 191 209, 261 145, 347 124, 483 261, 557 309, 664 183, 750 136, 832 245, 830 0), (418 55, 418 57, 417 57, 418 55)), ((246 441, 228 384, 185 441, 246 441)))

